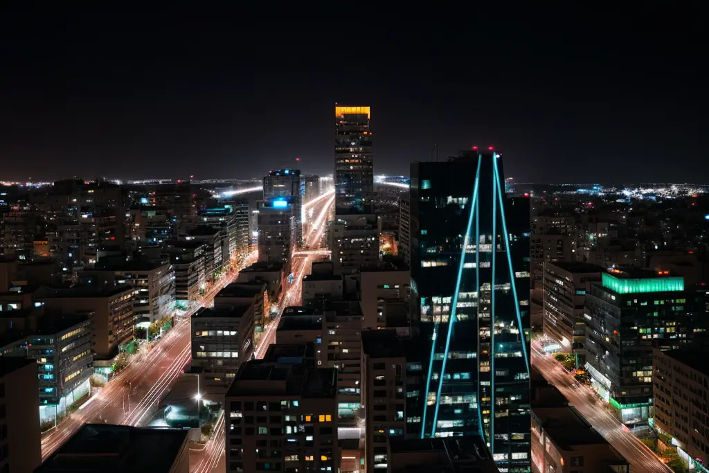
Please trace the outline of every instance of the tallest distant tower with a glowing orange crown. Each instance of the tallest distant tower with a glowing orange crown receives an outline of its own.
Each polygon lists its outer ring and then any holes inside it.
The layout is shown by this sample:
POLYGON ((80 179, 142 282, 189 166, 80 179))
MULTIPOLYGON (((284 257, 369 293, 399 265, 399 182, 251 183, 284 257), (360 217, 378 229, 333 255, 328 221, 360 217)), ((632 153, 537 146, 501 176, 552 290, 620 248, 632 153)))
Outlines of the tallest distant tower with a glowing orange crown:
POLYGON ((335 106, 335 213, 371 213, 372 194, 369 107, 335 106))

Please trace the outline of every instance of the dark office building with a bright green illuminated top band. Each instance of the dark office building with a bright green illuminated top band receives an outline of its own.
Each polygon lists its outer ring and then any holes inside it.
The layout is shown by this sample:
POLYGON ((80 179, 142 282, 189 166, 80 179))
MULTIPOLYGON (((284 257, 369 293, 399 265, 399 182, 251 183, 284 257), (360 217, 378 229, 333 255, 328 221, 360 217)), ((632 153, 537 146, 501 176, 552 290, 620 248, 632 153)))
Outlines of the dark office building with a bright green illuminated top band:
POLYGON ((652 350, 672 350, 703 333, 682 277, 602 274, 586 294, 586 369, 593 389, 626 425, 652 417, 652 350))

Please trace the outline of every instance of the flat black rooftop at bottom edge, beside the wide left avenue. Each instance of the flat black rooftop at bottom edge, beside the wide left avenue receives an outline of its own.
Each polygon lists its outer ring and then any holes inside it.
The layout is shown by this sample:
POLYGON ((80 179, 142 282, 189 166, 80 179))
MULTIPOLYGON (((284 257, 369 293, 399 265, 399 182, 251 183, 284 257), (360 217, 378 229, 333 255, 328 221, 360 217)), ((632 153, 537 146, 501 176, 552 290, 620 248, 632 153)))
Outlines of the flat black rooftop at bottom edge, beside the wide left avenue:
POLYGON ((169 472, 186 442, 182 429, 85 424, 35 473, 169 472))

